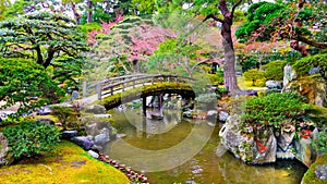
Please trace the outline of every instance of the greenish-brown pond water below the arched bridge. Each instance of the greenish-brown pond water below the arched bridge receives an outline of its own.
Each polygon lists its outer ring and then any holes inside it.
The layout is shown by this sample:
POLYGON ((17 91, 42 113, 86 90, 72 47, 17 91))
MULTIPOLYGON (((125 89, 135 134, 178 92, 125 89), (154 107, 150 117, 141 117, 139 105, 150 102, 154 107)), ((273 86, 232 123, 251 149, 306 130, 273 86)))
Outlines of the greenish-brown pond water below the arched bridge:
POLYGON ((144 173, 149 183, 300 184, 306 171, 298 161, 254 167, 230 152, 218 157, 219 123, 183 119, 177 111, 165 111, 164 120, 144 119, 138 109, 109 113, 125 136, 106 145, 104 152, 144 173), (186 139, 191 144, 180 146, 186 139))

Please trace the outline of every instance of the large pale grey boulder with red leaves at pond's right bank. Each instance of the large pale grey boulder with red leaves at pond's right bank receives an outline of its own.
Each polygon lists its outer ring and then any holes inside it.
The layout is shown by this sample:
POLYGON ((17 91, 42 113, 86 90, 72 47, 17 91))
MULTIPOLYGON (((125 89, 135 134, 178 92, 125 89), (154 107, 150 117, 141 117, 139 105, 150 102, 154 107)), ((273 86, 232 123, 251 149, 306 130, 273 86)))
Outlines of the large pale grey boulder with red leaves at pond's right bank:
POLYGON ((253 136, 252 127, 241 127, 240 122, 239 115, 228 118, 219 132, 221 145, 243 162, 253 164, 275 162, 277 140, 272 128, 261 130, 261 133, 253 136))

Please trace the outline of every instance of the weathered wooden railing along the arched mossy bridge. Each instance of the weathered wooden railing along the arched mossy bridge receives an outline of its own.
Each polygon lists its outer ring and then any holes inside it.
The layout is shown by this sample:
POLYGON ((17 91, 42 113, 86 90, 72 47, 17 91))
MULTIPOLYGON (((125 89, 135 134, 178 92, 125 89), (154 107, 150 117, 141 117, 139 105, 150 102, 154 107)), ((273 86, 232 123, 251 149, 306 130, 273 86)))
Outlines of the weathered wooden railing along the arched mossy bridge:
POLYGON ((102 96, 113 95, 116 91, 124 91, 144 85, 154 85, 155 83, 187 83, 194 78, 179 76, 175 74, 135 74, 119 77, 106 78, 95 84, 87 85, 83 82, 83 98, 87 97, 88 89, 95 88, 97 98, 100 100, 102 96))

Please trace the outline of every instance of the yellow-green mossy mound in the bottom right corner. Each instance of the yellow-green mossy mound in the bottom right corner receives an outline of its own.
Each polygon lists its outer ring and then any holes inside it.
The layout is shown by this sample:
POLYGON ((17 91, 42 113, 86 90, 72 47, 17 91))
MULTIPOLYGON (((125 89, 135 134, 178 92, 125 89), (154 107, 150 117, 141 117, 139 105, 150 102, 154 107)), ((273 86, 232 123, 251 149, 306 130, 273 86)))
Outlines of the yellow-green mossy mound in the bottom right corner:
POLYGON ((308 170, 305 172, 302 183, 303 184, 324 184, 326 183, 326 180, 323 181, 318 179, 315 174, 316 165, 318 164, 327 164, 327 155, 318 156, 316 161, 308 168, 308 170))

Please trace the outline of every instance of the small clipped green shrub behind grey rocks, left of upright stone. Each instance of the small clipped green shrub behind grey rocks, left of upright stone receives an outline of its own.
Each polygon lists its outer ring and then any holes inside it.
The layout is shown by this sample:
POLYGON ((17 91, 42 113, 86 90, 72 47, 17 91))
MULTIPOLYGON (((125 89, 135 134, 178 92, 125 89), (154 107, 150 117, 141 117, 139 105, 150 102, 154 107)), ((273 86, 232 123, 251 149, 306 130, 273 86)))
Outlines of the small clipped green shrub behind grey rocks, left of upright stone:
POLYGON ((271 61, 263 65, 266 79, 282 81, 284 61, 271 61))

